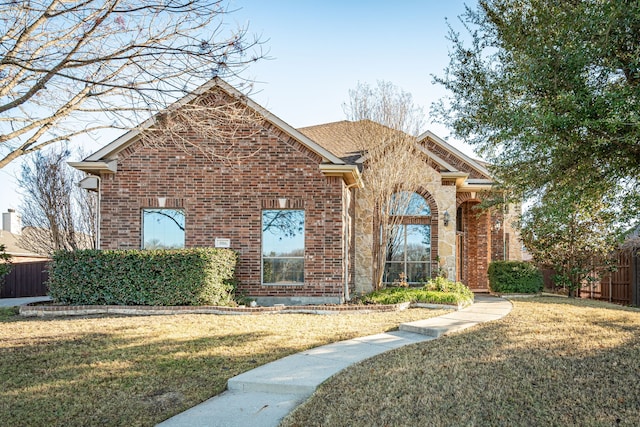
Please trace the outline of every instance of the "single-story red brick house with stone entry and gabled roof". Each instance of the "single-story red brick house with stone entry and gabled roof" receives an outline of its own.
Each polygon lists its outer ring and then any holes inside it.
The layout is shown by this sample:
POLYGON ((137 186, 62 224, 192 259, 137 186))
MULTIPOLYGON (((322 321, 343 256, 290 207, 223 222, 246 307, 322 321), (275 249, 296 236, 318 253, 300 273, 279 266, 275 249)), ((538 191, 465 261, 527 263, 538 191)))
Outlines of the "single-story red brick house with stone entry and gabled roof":
MULTIPOLYGON (((357 123, 294 129, 220 79, 168 111, 207 97, 240 100, 258 119, 235 128, 233 140, 185 131, 183 146, 149 144, 132 130, 71 164, 89 174, 84 188, 99 191, 99 247, 230 247, 239 253, 240 290, 262 305, 341 303, 369 291, 374 233, 358 198, 362 166, 349 139, 357 123)), ((416 188, 420 212, 402 232, 403 253, 421 252, 422 261, 390 260, 388 280, 444 271, 487 290, 488 263, 521 256, 516 212, 474 209, 492 186, 485 166, 430 132, 419 144, 425 171, 438 178, 416 188)))

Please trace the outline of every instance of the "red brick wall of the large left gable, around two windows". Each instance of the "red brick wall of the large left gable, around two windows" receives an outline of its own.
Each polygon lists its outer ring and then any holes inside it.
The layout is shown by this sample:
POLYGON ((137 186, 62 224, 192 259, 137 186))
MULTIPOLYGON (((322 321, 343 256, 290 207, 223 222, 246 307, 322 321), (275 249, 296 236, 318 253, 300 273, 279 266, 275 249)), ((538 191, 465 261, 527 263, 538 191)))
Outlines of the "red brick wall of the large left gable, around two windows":
MULTIPOLYGON (((203 146, 210 141, 189 136, 203 146)), ((231 239, 239 252, 240 289, 249 296, 327 297, 343 294, 345 184, 319 170, 322 159, 272 125, 257 134, 240 130, 234 154, 240 165, 209 160, 197 150, 174 145, 136 143, 119 154, 118 172, 101 183, 102 249, 140 248, 141 210, 184 209, 186 246, 213 246, 216 237, 231 239), (261 211, 278 207, 305 211, 304 286, 261 285, 261 211)), ((222 148, 227 142, 217 142, 222 148)), ((346 246, 348 248, 348 245, 346 246)))

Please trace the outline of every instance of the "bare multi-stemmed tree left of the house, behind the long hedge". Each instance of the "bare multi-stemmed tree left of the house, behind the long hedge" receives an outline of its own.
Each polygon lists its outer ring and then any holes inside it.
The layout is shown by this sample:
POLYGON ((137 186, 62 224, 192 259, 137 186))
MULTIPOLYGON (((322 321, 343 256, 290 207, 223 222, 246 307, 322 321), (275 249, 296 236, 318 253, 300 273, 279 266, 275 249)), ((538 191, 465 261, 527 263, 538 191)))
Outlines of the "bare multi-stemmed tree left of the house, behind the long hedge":
POLYGON ((67 165, 69 151, 39 151, 22 165, 24 229, 18 244, 32 252, 95 247, 95 193, 77 186, 83 174, 67 165))

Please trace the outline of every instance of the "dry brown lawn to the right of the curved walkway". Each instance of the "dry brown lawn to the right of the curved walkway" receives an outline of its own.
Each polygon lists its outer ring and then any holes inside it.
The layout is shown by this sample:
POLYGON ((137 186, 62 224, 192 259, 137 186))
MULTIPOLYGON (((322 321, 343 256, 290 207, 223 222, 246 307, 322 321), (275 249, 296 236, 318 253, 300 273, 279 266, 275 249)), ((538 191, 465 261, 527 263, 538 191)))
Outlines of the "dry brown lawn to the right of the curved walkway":
POLYGON ((640 310, 513 304, 499 321, 343 371, 283 426, 640 425, 640 310))

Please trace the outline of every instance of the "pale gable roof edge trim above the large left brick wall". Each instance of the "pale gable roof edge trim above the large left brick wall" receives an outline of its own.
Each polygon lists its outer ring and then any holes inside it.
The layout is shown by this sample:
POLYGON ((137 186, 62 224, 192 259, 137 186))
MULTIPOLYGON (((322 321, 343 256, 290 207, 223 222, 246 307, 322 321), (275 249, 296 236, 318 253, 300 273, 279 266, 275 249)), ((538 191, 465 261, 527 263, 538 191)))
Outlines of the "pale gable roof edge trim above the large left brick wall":
MULTIPOLYGON (((340 159, 338 156, 322 147, 321 145, 317 144, 315 141, 309 139, 306 135, 300 133, 298 130, 291 127, 289 124, 278 118, 276 115, 274 115, 219 77, 214 77, 213 79, 209 80, 207 83, 203 84, 193 92, 171 104, 164 111, 179 109, 180 107, 188 104, 197 97, 216 88, 226 92, 228 95, 234 98, 242 99, 243 102, 247 104, 247 106, 257 111, 269 123, 279 128, 280 130, 285 132, 285 134, 299 141, 303 146, 320 156, 324 163, 332 165, 345 165, 345 161, 340 159)), ((69 164, 76 169, 80 169, 89 173, 116 172, 118 153, 129 147, 131 144, 137 142, 140 138, 141 132, 144 129, 147 129, 154 125, 156 123, 157 117, 158 114, 155 114, 154 116, 141 123, 136 129, 132 129, 126 132, 119 138, 115 139, 100 150, 85 158, 83 161, 70 162, 69 164)))

